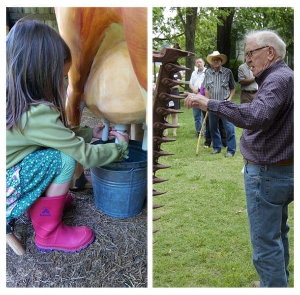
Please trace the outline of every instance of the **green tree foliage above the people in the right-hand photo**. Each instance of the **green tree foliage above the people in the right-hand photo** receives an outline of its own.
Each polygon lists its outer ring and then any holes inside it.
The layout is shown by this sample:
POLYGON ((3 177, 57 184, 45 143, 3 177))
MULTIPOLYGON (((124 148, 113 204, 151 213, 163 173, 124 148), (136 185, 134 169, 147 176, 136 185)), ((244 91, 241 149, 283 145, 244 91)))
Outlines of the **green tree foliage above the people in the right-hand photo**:
MULTIPOLYGON (((198 7, 194 40, 195 57, 206 57, 217 48, 217 25, 226 12, 221 7, 198 7)), ((226 17, 226 15, 225 15, 226 17)), ((179 43, 186 48, 186 34, 182 20, 186 20, 186 7, 153 7, 153 49, 172 47, 179 43), (182 15, 180 18, 179 11, 182 15), (164 18, 166 12, 173 15, 164 18)), ((235 7, 231 28, 231 51, 229 59, 237 58, 238 41, 250 30, 275 30, 287 44, 286 61, 294 68, 294 8, 293 7, 235 7)), ((240 50, 243 50, 240 48, 240 50)), ((188 51, 188 50, 187 50, 188 51)))

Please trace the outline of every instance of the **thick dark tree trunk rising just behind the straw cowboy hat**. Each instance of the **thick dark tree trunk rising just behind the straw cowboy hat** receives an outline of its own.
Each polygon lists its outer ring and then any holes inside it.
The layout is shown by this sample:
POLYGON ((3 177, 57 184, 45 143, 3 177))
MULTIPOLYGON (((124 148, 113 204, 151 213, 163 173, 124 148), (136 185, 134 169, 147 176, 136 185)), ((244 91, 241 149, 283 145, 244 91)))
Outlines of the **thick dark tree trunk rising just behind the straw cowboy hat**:
POLYGON ((227 56, 227 61, 224 64, 229 68, 230 60, 230 45, 231 45, 231 26, 235 14, 234 7, 219 7, 221 14, 219 20, 220 25, 217 26, 217 50, 227 56), (225 14, 225 16, 224 16, 225 14))

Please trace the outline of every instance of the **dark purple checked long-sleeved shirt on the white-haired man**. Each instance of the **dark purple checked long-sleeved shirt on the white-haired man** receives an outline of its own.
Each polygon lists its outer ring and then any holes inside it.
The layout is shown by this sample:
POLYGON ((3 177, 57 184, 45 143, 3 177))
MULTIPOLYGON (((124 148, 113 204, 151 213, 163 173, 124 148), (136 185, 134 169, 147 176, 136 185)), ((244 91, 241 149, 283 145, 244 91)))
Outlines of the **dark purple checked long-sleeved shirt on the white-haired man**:
POLYGON ((240 152, 249 161, 272 165, 294 157, 294 71, 277 61, 255 78, 252 103, 210 99, 208 110, 243 128, 240 152))

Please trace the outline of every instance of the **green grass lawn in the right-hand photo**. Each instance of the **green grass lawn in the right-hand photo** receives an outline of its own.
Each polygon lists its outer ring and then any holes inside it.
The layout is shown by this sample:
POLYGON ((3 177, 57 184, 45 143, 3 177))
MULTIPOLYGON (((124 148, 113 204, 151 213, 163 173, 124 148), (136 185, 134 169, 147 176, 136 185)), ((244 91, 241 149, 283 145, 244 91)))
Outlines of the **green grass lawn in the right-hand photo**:
MULTIPOLYGON (((240 91, 234 97, 239 103, 240 91)), ((161 147, 174 155, 159 158, 171 168, 156 176, 169 179, 153 185, 166 192, 153 197, 153 287, 253 287, 258 275, 252 264, 243 186, 243 158, 236 128, 237 152, 225 158, 226 149, 211 155, 197 138, 191 109, 181 100, 180 128, 175 142, 161 147)), ((172 129, 169 129, 169 137, 172 129)), ((294 203, 289 207, 290 287, 294 287, 294 203)))

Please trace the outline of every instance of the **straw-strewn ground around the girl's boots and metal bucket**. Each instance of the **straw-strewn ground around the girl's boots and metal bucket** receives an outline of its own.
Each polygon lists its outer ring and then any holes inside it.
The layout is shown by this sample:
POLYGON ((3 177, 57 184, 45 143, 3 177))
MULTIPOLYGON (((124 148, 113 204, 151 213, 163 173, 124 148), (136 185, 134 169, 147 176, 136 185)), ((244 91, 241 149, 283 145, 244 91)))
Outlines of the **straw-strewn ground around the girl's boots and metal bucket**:
POLYGON ((130 218, 114 218, 94 204, 93 191, 72 191, 63 222, 89 226, 95 240, 77 253, 42 252, 26 214, 14 233, 26 248, 16 255, 6 245, 6 287, 147 287, 147 208, 130 218))

